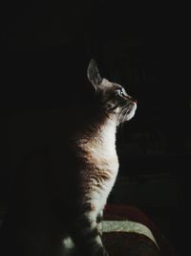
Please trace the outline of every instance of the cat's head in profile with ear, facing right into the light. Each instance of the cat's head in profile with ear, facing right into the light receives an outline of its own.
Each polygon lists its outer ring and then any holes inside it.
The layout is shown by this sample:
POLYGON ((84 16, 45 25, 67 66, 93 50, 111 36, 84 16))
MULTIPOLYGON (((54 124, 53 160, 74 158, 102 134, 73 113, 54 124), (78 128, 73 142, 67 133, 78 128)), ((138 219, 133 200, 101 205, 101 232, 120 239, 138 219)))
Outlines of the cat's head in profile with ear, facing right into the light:
POLYGON ((101 78, 95 59, 89 63, 87 76, 96 89, 97 103, 107 115, 117 120, 117 125, 134 117, 137 101, 120 84, 101 78))

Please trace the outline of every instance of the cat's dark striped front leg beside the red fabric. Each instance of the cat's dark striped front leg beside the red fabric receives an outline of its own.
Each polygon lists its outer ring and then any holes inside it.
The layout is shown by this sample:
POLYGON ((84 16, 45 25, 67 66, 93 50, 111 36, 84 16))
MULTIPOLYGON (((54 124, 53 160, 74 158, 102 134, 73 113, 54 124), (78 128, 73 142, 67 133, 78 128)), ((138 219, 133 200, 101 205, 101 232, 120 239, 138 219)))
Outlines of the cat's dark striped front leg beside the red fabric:
POLYGON ((100 238, 99 225, 94 214, 84 213, 73 224, 71 237, 79 255, 83 256, 108 256, 100 238))

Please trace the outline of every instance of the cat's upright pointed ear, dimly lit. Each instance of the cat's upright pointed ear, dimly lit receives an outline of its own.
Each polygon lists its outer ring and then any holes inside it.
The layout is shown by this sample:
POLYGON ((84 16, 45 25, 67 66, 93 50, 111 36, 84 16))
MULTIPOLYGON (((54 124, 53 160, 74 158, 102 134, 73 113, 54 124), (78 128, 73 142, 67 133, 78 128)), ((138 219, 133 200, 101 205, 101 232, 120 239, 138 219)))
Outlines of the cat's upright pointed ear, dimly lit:
POLYGON ((97 89, 97 87, 100 86, 101 84, 102 78, 99 74, 99 71, 96 65, 96 60, 94 58, 90 60, 90 63, 88 65, 87 76, 89 81, 91 81, 92 84, 97 89))

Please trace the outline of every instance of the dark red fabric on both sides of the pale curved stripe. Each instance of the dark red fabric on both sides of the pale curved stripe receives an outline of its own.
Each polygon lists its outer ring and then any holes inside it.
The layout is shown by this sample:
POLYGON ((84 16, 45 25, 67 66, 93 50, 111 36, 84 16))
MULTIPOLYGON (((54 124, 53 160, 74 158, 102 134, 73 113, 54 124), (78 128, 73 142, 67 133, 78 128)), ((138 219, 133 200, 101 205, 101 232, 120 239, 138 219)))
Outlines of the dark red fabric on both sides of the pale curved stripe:
MULTIPOLYGON (((163 236, 163 234, 160 232, 158 226, 151 221, 142 211, 140 211, 138 208, 133 207, 133 206, 129 206, 129 205, 112 205, 112 204, 108 204, 105 207, 104 210, 104 220, 108 220, 108 221, 136 221, 139 222, 141 224, 144 224, 145 226, 147 226, 151 232, 153 233, 153 236, 155 237, 157 243, 159 244, 159 249, 160 249, 160 255, 161 256, 177 256, 173 246, 166 240, 166 238, 163 236)), ((141 249, 139 249, 140 252, 138 252, 137 254, 132 254, 132 255, 138 255, 138 256, 150 256, 150 255, 159 255, 158 252, 153 248, 153 251, 151 252, 151 247, 150 246, 155 246, 154 243, 152 241, 149 242, 149 238, 147 238, 144 235, 140 235, 140 234, 130 234, 130 232, 128 234, 117 234, 117 233, 121 233, 121 232, 112 232, 113 234, 106 234, 107 237, 107 243, 106 244, 110 244, 108 243, 109 239, 111 241, 113 241, 112 243, 114 243, 115 238, 117 240, 117 237, 120 236, 120 241, 126 241, 125 244, 128 244, 128 249, 130 250, 130 247, 132 246, 136 246, 136 244, 138 244, 141 240, 141 242, 144 240, 144 246, 142 246, 141 249), (115 238, 114 238, 115 237, 115 238), (126 237, 126 238, 125 238, 126 237), (144 239, 143 239, 144 237, 144 239), (125 240, 126 239, 126 240, 125 240), (130 243, 131 241, 131 243, 130 243), (134 245, 132 245, 134 244, 134 245), (146 244, 146 246, 145 246, 146 244), (144 247, 144 249, 143 249, 144 247), (150 249, 150 251, 149 251, 150 249), (145 252, 147 251, 147 252, 145 252), (144 254, 144 252, 146 254, 144 254)), ((118 240, 118 241, 119 241, 118 240)), ((140 244, 140 243, 139 243, 140 244)), ((117 244, 116 244, 117 245, 117 244)), ((116 246, 115 245, 115 246, 116 246)), ((140 246, 140 245, 139 245, 140 246)), ((138 246, 135 247, 135 250, 138 250, 138 246)), ((109 252, 113 251, 111 255, 114 256, 120 256, 123 255, 122 252, 121 253, 117 253, 117 254, 113 254, 114 250, 112 249, 112 247, 109 245, 108 248, 109 252)), ((132 250, 133 251, 133 250, 132 250)), ((124 255, 131 255, 131 254, 124 254, 124 255)))

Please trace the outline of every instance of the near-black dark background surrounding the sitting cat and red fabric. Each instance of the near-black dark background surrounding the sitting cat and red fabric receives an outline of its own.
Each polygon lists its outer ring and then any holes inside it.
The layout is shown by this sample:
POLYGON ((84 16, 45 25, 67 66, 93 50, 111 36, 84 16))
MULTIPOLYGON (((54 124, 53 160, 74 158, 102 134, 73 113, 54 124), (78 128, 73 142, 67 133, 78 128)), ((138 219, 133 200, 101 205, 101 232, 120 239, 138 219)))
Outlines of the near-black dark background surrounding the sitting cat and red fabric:
POLYGON ((136 117, 117 136, 121 165, 109 200, 142 209, 180 252, 191 153, 188 15, 175 4, 134 3, 34 0, 2 8, 1 213, 23 154, 59 133, 57 113, 89 97, 86 69, 96 58, 102 76, 138 100, 136 117))

